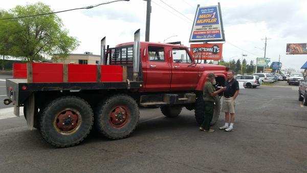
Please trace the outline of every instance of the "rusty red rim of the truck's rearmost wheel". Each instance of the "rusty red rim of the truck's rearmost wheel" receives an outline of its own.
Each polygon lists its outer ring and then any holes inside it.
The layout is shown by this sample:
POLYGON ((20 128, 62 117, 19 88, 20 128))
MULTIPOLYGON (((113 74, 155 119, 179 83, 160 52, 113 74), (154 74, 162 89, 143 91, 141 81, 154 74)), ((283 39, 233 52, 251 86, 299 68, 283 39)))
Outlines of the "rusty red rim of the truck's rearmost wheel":
POLYGON ((54 120, 56 131, 64 135, 76 132, 80 124, 81 115, 74 109, 65 109, 59 112, 54 120))

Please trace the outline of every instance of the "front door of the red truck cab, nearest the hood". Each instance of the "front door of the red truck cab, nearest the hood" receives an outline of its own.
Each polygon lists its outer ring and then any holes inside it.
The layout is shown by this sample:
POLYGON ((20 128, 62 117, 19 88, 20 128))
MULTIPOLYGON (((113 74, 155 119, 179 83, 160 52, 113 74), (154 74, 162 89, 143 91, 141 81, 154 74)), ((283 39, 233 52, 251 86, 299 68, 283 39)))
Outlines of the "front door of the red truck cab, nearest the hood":
POLYGON ((194 90, 198 83, 198 67, 191 65, 192 58, 186 49, 171 50, 171 82, 170 89, 194 90))

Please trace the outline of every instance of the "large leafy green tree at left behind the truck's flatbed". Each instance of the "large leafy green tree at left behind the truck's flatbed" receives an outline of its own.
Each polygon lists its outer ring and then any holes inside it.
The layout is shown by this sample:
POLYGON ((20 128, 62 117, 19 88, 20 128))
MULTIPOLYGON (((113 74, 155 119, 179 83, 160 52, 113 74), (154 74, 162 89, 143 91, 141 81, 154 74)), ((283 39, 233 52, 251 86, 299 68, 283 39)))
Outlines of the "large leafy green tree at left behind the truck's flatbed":
MULTIPOLYGON (((35 3, 16 6, 8 13, 18 17, 51 12, 53 11, 49 6, 35 3)), ((15 56, 27 61, 41 60, 42 54, 50 55, 53 59, 65 58, 79 46, 79 41, 68 35, 68 31, 63 29, 61 19, 55 14, 2 21, 16 21, 13 29, 5 29, 12 30, 8 42, 12 44, 11 50, 15 56)))

